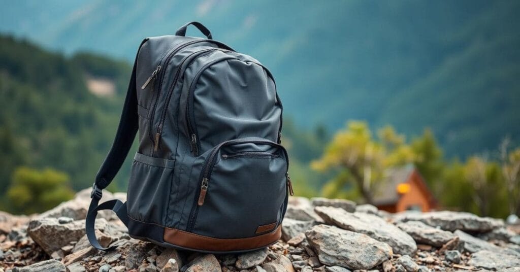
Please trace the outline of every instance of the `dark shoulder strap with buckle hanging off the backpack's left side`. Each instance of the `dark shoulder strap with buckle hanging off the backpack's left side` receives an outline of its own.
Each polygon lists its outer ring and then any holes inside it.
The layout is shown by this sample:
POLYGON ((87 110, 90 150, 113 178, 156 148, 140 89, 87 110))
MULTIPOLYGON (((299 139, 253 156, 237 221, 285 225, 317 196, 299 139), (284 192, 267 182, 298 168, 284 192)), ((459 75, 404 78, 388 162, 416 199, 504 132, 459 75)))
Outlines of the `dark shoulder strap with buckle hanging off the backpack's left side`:
MULTIPOLYGON (((148 41, 148 39, 142 41, 139 49, 146 41, 148 41)), ((99 250, 110 250, 111 248, 103 248, 96 239, 95 221, 98 211, 112 210, 116 215, 118 215, 125 226, 128 222, 126 203, 116 199, 104 202, 100 205, 98 205, 98 203, 102 197, 102 190, 112 182, 112 179, 114 179, 115 175, 123 165, 123 162, 128 155, 128 151, 130 151, 134 142, 137 129, 139 128, 139 117, 137 114, 136 66, 137 56, 134 61, 132 76, 128 83, 123 112, 121 113, 121 120, 119 121, 118 131, 115 134, 114 143, 107 154, 107 158, 105 158, 105 161, 101 164, 94 185, 92 186, 92 193, 90 193, 90 198, 92 200, 90 201, 87 217, 85 219, 85 229, 88 241, 94 248, 99 250)))

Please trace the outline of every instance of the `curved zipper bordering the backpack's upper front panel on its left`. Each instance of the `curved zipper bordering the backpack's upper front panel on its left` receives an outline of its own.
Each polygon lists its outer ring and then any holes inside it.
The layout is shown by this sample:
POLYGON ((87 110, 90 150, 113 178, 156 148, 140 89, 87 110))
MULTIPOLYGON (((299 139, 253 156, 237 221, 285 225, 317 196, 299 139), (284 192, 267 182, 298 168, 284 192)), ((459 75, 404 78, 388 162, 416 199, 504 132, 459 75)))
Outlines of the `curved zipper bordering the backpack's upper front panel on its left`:
POLYGON ((191 81, 190 88, 188 89, 188 101, 186 103, 186 125, 187 125, 187 131, 188 135, 190 135, 190 150, 191 153, 193 153, 193 156, 199 156, 200 153, 200 143, 198 141, 198 133, 196 126, 192 123, 194 122, 191 118, 191 114, 193 113, 193 92, 195 90, 195 87, 197 86, 197 81, 199 80, 202 72, 204 72, 207 68, 212 66, 215 63, 218 63, 220 61, 229 60, 229 59, 235 59, 239 60, 236 57, 224 57, 221 59, 213 60, 212 62, 207 63, 205 66, 203 66, 199 72, 193 77, 193 80, 191 81))

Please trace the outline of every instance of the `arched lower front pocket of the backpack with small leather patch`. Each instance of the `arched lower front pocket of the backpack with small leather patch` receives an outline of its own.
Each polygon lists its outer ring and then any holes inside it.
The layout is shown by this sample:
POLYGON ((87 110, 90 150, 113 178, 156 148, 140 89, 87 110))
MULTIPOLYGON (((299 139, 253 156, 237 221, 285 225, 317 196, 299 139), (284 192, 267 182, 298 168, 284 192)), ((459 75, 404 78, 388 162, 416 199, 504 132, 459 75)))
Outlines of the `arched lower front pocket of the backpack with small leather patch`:
POLYGON ((281 223, 288 196, 288 158, 261 138, 224 142, 200 173, 187 231, 214 238, 253 237, 281 223))

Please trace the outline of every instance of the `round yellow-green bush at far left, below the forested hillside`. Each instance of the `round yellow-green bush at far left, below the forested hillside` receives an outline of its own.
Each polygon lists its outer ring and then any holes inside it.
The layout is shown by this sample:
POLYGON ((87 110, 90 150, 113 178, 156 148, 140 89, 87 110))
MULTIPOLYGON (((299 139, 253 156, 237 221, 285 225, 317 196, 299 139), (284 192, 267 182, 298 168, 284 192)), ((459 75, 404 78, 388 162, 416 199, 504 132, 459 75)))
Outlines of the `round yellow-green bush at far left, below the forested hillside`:
POLYGON ((73 196, 67 174, 52 169, 38 171, 24 166, 14 171, 7 190, 12 210, 24 214, 49 210, 73 196))

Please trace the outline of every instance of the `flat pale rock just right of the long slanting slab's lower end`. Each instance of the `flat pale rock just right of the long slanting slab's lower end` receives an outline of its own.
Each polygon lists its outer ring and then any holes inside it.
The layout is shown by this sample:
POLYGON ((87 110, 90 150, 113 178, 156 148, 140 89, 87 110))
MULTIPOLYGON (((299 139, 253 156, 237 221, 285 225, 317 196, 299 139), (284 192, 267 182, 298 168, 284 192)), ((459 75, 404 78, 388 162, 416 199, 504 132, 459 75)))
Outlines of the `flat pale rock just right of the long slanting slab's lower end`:
POLYGON ((410 235, 415 242, 430 244, 438 248, 456 237, 450 231, 434 228, 419 221, 398 223, 397 227, 410 235))

